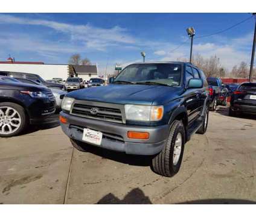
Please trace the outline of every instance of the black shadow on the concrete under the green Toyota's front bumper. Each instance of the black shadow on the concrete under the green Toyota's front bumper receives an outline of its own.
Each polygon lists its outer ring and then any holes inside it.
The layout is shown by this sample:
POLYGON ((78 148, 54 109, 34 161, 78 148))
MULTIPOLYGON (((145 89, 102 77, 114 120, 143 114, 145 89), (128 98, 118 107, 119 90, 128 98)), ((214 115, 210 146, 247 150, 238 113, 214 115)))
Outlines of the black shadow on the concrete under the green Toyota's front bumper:
POLYGON ((124 163, 133 166, 151 166, 152 156, 136 156, 131 154, 119 153, 109 149, 99 148, 86 144, 83 146, 85 152, 89 152, 105 159, 114 160, 115 162, 124 163))

